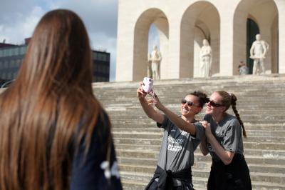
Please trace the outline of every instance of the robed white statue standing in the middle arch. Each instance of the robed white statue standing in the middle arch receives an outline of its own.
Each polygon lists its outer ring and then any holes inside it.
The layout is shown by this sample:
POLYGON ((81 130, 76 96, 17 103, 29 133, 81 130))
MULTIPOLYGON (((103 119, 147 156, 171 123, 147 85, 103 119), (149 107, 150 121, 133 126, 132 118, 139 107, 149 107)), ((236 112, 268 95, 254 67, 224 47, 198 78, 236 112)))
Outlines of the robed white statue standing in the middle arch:
POLYGON ((207 39, 203 39, 203 46, 200 50, 200 74, 201 77, 209 77, 209 71, 212 65, 212 48, 207 39))

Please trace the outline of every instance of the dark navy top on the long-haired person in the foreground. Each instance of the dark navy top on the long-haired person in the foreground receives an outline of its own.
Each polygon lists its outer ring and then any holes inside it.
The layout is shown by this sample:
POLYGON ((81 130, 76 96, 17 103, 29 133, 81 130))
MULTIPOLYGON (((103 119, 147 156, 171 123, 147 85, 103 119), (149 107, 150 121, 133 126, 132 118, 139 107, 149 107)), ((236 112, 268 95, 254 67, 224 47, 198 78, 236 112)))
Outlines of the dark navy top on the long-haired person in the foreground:
POLYGON ((122 189, 113 139, 111 139, 109 148, 110 162, 107 159, 108 149, 105 145, 108 144, 110 133, 108 121, 107 114, 100 114, 87 154, 84 152, 83 143, 79 147, 78 154, 73 159, 71 190, 122 189))

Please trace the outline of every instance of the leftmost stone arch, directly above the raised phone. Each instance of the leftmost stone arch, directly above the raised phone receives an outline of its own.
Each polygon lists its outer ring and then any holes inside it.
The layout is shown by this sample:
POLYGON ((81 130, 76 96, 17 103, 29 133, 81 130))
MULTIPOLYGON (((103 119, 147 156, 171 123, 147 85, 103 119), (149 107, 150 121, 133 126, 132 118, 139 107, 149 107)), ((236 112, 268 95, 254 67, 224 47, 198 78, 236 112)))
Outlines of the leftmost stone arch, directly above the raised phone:
POLYGON ((150 26, 155 26, 159 36, 159 50, 162 54, 160 62, 160 79, 164 79, 167 71, 168 54, 168 33, 169 26, 165 14, 160 9, 148 9, 143 12, 137 23, 134 32, 134 53, 133 53, 133 81, 142 80, 147 76, 147 58, 150 26))

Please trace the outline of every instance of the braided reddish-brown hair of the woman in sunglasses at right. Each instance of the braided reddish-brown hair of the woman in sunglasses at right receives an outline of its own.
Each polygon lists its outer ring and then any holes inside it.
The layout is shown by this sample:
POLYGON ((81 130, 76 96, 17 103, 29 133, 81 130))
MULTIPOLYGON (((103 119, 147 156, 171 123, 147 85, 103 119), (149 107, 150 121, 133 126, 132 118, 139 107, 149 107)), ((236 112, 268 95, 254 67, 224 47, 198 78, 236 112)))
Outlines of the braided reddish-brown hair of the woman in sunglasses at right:
POLYGON ((227 91, 216 91, 220 96, 222 96, 222 105, 226 107, 226 110, 229 109, 229 106, 232 106, 232 110, 234 111, 234 114, 237 117, 237 120, 239 120, 239 124, 242 126, 242 134, 244 137, 247 137, 247 132, 244 129, 244 122, 242 122, 242 119, 239 116, 239 111, 237 111, 237 96, 235 96, 232 93, 228 93, 227 91))

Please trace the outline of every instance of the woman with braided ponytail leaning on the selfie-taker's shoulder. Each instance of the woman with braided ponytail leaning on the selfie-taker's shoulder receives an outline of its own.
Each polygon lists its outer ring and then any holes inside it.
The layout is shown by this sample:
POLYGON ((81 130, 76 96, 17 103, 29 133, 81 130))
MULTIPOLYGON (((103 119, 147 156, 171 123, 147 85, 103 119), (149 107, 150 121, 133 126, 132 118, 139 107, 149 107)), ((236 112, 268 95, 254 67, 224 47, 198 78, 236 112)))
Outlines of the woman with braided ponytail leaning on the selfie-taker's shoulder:
POLYGON ((242 135, 247 137, 236 109, 237 97, 227 91, 215 91, 209 98, 202 125, 205 136, 199 147, 212 156, 208 190, 252 189, 249 169, 244 159, 242 135), (235 116, 227 114, 232 106, 235 116))

